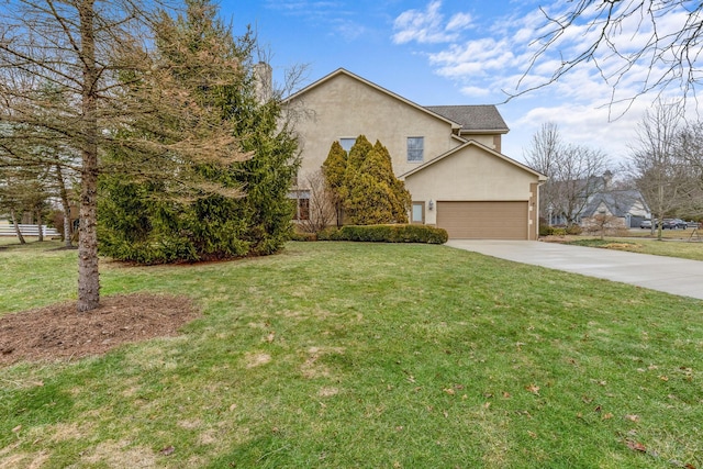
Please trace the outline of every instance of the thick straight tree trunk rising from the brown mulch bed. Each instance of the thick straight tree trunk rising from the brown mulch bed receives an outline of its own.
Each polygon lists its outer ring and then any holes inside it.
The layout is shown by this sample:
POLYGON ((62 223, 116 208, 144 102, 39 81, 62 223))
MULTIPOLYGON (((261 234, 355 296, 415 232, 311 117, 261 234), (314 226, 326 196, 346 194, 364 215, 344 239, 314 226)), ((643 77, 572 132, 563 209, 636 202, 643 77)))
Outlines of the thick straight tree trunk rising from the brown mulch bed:
POLYGON ((82 77, 82 167, 80 171, 80 227, 78 238, 78 311, 87 312, 100 303, 98 271, 98 120, 96 82, 94 0, 80 2, 82 77))

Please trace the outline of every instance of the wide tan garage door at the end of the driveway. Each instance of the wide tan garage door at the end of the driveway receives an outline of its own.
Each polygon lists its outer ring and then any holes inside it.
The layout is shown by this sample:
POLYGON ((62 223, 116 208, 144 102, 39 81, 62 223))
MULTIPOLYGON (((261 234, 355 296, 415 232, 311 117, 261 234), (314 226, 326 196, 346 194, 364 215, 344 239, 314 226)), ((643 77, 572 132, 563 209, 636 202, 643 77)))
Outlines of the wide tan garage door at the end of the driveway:
POLYGON ((437 202, 450 238, 527 239, 527 202, 437 202))

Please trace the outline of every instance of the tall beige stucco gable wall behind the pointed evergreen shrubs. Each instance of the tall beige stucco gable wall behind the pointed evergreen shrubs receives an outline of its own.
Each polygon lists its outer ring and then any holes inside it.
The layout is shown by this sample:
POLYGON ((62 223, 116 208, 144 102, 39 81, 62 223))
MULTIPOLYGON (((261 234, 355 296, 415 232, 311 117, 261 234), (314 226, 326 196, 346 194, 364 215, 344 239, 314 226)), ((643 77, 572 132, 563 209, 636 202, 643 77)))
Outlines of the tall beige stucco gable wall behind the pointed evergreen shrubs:
MULTIPOLYGON (((299 185, 319 170, 338 138, 379 139, 393 158, 397 176, 422 163, 408 163, 408 137, 424 137, 424 161, 457 147, 451 124, 353 77, 339 74, 291 101, 305 118, 295 123, 302 145, 299 185)), ((492 138, 492 137, 491 137, 492 138)))

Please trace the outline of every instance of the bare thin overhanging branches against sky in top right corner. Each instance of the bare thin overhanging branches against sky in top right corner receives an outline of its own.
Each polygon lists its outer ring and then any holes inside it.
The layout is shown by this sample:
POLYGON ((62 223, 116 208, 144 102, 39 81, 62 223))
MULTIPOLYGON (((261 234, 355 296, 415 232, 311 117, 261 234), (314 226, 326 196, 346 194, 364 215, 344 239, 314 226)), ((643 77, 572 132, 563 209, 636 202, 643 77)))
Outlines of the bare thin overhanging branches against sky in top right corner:
MULTIPOLYGON (((559 52, 550 77, 527 91, 557 81, 571 69, 592 63, 613 88, 643 75, 634 99, 652 90, 678 87, 683 96, 703 82, 700 53, 703 4, 692 0, 576 0, 566 9, 542 8, 545 24, 538 29, 537 46, 524 77, 543 67, 543 58, 559 52), (578 34, 582 45, 563 52, 561 43, 578 34)), ((524 91, 523 91, 524 92, 524 91)))

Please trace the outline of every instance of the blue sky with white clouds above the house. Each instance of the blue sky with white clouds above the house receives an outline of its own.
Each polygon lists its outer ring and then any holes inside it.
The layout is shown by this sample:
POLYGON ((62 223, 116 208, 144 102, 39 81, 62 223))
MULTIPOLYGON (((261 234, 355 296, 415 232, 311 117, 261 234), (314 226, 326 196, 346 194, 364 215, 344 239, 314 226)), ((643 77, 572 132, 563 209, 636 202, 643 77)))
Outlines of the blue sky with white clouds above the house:
MULTIPOLYGON (((587 64, 563 80, 515 98, 514 92, 534 53, 533 40, 544 25, 539 5, 551 13, 562 0, 223 0, 221 15, 235 34, 250 24, 270 53, 274 78, 281 82, 286 69, 306 65, 306 80, 317 80, 339 67, 359 75, 421 105, 498 104, 511 132, 503 153, 523 160, 531 138, 545 122, 558 124, 568 143, 588 145, 622 161, 635 130, 654 97, 609 105, 612 88, 599 70, 587 64), (618 116, 618 119, 614 119, 618 116)), ((627 2, 625 2, 627 3, 627 2)), ((671 27, 676 14, 669 14, 671 27)), ((662 25, 667 27, 667 25, 662 25)), ((624 24, 622 37, 636 47, 645 37, 636 24, 624 24), (632 31, 628 31, 628 26, 632 31)), ((576 29, 559 49, 578 51, 592 32, 576 29)), ((559 57, 545 56, 523 86, 544 80, 559 57)), ((604 64, 604 65, 603 65, 604 64)), ((620 65, 604 60, 609 72, 620 65)), ((648 69, 634 69, 621 82, 615 99, 634 96, 648 69)))

